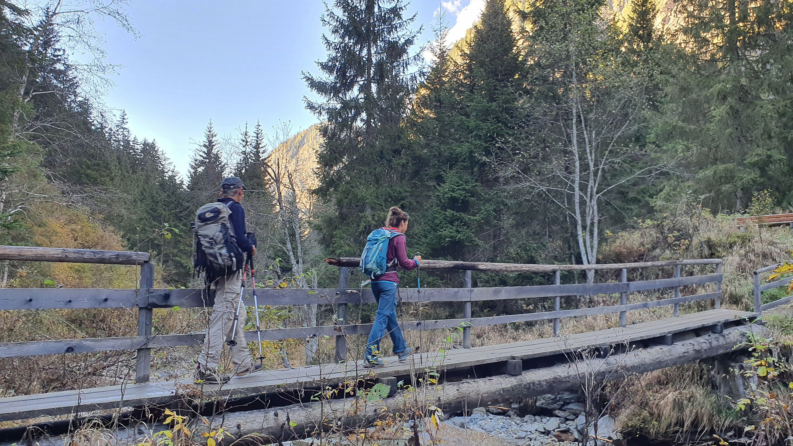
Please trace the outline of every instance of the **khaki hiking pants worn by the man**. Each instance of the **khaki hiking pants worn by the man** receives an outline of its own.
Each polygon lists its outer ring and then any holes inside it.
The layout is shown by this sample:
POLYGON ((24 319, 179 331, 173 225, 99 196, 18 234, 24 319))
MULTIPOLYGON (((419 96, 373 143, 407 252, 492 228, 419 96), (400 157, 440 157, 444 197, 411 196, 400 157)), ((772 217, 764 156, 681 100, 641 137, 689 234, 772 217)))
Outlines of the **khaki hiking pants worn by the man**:
POLYGON ((201 346, 201 354, 198 355, 198 364, 210 370, 223 370, 228 373, 236 373, 239 369, 248 368, 253 364, 251 353, 248 352, 247 342, 245 341, 245 320, 247 312, 245 304, 239 307, 239 319, 237 321, 237 333, 235 337, 236 345, 229 348, 231 364, 224 364, 220 367, 220 353, 223 352, 225 341, 231 339, 234 328, 234 314, 239 304, 240 292, 243 283, 242 270, 222 277, 215 282, 215 305, 212 307, 212 315, 209 318, 209 330, 204 338, 204 345, 201 346), (230 368, 228 367, 230 365, 230 368))

